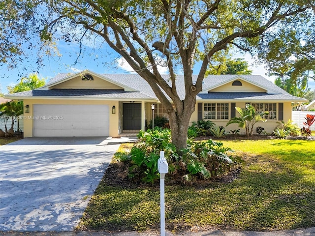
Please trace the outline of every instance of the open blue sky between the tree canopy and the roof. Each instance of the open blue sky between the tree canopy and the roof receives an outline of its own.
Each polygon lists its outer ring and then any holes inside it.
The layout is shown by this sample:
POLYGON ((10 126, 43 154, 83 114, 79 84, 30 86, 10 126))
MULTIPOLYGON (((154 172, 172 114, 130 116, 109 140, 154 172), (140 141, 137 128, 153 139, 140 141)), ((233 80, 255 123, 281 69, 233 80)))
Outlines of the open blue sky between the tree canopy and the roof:
MULTIPOLYGON (((0 66, 0 89, 2 93, 7 93, 7 86, 14 86, 18 83, 21 76, 27 76, 30 73, 38 71, 40 78, 46 78, 46 82, 55 77, 58 73, 73 73, 81 70, 89 69, 96 73, 129 73, 132 71, 127 63, 122 63, 119 55, 116 54, 108 45, 96 45, 101 49, 94 50, 92 45, 86 45, 83 56, 78 59, 78 63, 73 64, 77 58, 78 44, 74 43, 59 43, 58 49, 62 57, 44 57, 43 66, 38 70, 36 69, 36 55, 25 60, 22 64, 18 65, 18 69, 7 69, 7 67, 0 66), (27 70, 23 70, 26 67, 27 70)), ((94 45, 95 46, 95 45, 94 45)), ((250 55, 236 55, 235 58, 244 58, 249 62, 250 69, 254 75, 262 75, 263 77, 274 81, 274 77, 266 75, 267 70, 264 65, 257 65, 250 55)), ((161 69, 163 71, 163 69, 161 69)), ((309 81, 309 87, 315 89, 315 82, 309 81)))

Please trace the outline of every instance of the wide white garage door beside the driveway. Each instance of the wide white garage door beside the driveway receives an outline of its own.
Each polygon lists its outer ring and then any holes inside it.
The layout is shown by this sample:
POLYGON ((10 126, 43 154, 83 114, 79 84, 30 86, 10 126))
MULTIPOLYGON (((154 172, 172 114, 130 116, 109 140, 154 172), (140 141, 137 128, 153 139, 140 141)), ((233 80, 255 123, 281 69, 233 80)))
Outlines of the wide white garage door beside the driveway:
POLYGON ((109 136, 107 105, 33 106, 34 137, 109 136))

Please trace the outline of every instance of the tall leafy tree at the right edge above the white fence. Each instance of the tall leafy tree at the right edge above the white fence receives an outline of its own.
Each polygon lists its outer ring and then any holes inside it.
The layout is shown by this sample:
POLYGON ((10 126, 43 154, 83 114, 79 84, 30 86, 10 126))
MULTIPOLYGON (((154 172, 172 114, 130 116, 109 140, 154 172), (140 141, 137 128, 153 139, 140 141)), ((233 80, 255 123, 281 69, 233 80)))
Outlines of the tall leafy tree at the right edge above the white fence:
POLYGON ((309 17, 302 29, 293 24, 288 29, 278 29, 279 38, 266 40, 258 51, 269 75, 277 77, 275 84, 299 97, 306 97, 309 81, 315 80, 315 24, 314 16, 309 17))

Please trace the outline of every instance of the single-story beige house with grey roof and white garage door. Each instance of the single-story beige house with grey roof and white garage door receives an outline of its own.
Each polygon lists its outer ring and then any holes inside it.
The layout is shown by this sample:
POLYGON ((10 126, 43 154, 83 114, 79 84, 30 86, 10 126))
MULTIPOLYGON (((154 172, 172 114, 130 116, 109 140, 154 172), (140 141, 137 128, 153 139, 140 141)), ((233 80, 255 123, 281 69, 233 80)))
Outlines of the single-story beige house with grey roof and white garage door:
MULTIPOLYGON (((168 75, 164 75, 165 80, 168 75)), ((177 88, 184 97, 184 76, 177 76, 177 88)), ((14 94, 23 99, 25 137, 125 136, 145 129, 145 120, 164 116, 166 111, 148 83, 137 74, 97 74, 85 70, 58 74, 45 86, 14 94)), ((280 89, 260 75, 209 75, 196 97, 190 121, 210 119, 216 125, 238 116, 235 107, 252 104, 257 111, 268 111, 267 132, 280 120, 291 118, 292 103, 304 102, 280 89)), ((236 129, 231 124, 229 129, 236 129)))

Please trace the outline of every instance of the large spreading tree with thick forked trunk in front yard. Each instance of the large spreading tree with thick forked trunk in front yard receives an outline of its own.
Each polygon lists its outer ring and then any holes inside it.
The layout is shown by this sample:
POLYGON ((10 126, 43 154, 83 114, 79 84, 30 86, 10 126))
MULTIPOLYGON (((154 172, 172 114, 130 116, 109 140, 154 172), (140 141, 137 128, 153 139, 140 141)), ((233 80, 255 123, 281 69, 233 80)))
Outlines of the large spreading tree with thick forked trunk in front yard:
POLYGON ((24 54, 23 44, 33 48, 36 34, 39 48, 58 40, 82 46, 97 37, 149 83, 166 108, 178 149, 187 145, 196 94, 210 64, 220 64, 231 49, 257 53, 275 38, 287 40, 292 29, 307 31, 315 21, 309 0, 4 0, 0 7, 6 34, 0 45, 7 49, 1 50, 1 61, 10 64, 24 54), (160 64, 168 67, 167 81, 160 64), (184 73, 184 98, 176 87, 178 71, 184 73))

